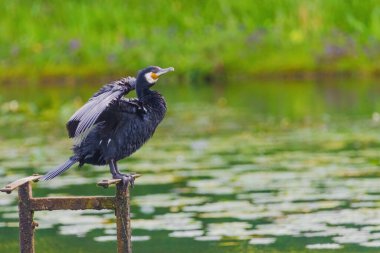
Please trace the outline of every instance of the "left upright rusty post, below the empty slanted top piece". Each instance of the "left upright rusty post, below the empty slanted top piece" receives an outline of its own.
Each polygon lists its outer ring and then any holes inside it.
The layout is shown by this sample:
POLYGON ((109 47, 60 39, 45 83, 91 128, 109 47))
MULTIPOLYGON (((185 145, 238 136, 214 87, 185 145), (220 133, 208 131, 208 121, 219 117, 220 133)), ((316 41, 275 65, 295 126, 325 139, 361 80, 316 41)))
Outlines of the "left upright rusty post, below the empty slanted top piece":
POLYGON ((30 208, 32 187, 30 182, 20 185, 18 188, 19 218, 20 218, 20 252, 34 253, 34 228, 33 211, 30 208))

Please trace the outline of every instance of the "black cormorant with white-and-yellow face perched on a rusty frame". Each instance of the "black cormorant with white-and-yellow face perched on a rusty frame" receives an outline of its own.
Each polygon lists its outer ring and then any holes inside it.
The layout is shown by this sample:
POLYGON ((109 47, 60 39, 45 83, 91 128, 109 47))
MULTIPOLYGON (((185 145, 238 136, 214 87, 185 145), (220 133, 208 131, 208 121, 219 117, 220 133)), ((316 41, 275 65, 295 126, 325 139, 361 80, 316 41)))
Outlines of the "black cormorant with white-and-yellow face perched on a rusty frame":
POLYGON ((133 185, 132 175, 120 173, 116 162, 138 150, 163 120, 165 99, 150 88, 170 71, 174 68, 147 67, 136 78, 104 85, 66 124, 69 137, 75 139, 74 155, 42 180, 50 180, 79 162, 79 166, 108 164, 113 178, 133 185), (133 89, 137 98, 123 97, 133 89))

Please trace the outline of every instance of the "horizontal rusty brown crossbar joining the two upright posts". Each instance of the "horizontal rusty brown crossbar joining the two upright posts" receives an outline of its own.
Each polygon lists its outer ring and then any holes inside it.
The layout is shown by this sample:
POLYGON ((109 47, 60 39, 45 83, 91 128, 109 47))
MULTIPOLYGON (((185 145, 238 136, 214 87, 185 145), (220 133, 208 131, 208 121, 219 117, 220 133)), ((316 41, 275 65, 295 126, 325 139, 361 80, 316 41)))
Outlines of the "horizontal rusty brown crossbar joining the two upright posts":
POLYGON ((42 210, 85 210, 115 209, 115 197, 47 197, 32 198, 30 206, 33 211, 42 210))

